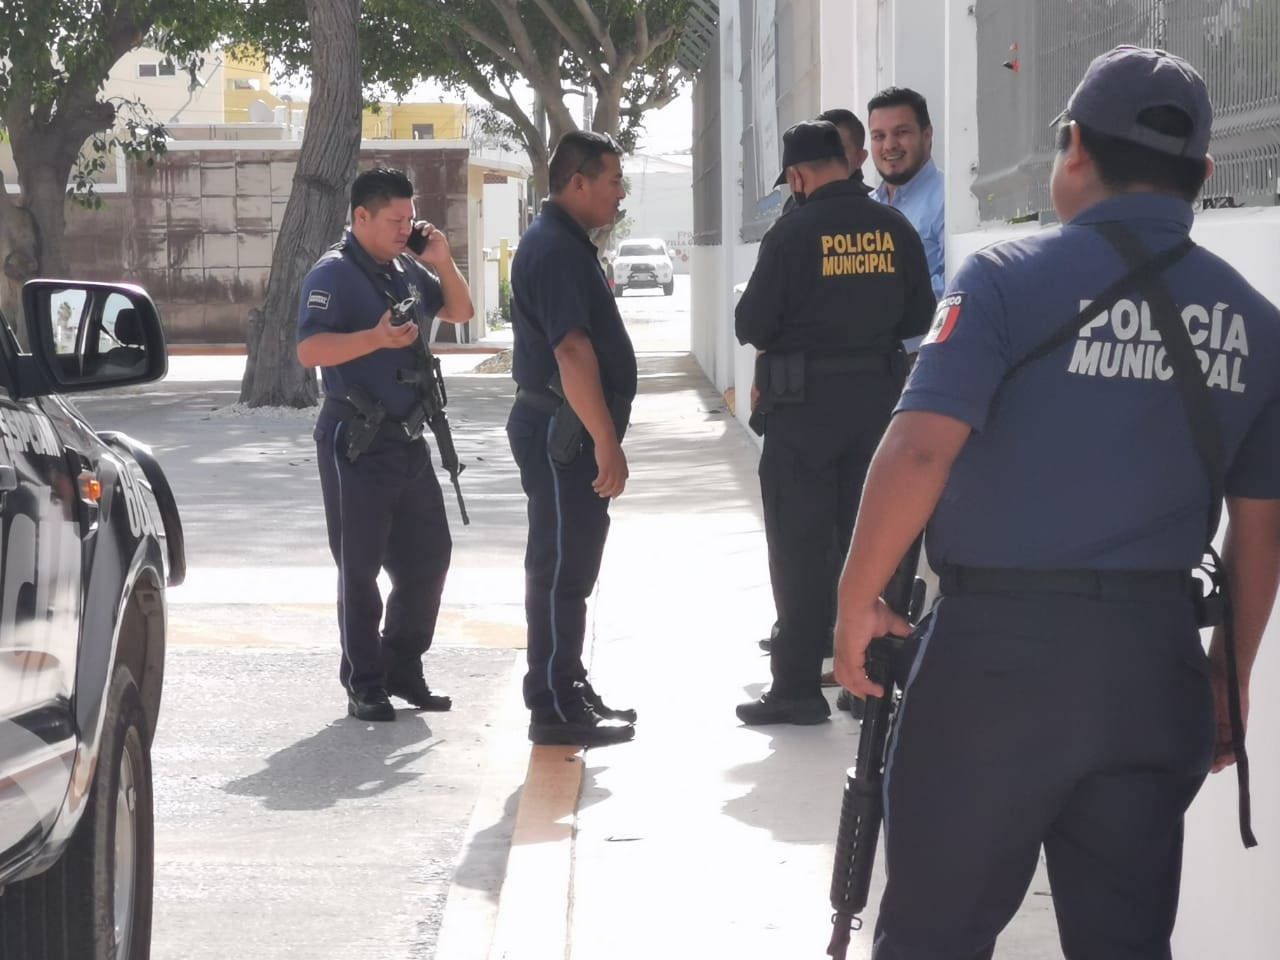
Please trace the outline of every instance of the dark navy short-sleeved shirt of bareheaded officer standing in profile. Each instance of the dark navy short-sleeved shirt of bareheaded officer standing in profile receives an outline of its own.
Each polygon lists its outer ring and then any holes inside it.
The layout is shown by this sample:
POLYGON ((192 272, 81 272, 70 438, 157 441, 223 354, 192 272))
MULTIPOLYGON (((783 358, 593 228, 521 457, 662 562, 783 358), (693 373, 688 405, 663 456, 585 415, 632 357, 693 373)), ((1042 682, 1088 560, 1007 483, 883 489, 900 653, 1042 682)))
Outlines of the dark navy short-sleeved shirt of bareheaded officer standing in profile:
POLYGON ((586 230, 548 200, 511 262, 512 376, 547 393, 558 370, 556 347, 571 330, 591 340, 605 397, 636 394, 636 355, 586 230))

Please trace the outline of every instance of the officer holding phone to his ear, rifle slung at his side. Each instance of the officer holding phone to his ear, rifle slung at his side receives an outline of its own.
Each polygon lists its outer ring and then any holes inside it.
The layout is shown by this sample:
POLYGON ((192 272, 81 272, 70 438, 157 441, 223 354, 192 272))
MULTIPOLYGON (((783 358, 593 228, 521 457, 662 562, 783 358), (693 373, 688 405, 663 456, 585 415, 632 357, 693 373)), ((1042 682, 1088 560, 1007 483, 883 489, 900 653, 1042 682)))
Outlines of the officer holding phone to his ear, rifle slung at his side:
POLYGON ((396 719, 388 694, 420 710, 452 707, 422 677, 452 540, 421 426, 406 429, 421 422, 419 394, 399 380, 420 372, 413 340, 433 316, 461 324, 472 312, 444 234, 413 220, 410 179, 360 173, 351 229, 311 268, 298 311, 298 361, 321 367, 325 396, 315 439, 338 564, 338 677, 360 719, 396 719), (417 255, 406 252, 415 229, 426 239, 417 255), (380 570, 392 582, 381 634, 380 570))

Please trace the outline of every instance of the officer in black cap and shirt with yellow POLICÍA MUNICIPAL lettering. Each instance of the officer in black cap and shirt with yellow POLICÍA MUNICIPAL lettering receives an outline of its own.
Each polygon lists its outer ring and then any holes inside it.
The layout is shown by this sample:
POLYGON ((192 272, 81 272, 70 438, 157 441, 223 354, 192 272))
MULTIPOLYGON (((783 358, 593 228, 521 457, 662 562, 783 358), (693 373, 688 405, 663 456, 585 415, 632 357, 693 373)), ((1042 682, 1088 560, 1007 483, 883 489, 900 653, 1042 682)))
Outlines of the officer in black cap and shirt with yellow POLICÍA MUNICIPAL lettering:
POLYGON ((867 465, 902 388, 900 343, 928 329, 934 306, 919 236, 849 179, 836 128, 797 123, 782 142, 778 183, 797 206, 764 236, 735 314, 739 340, 760 351, 760 494, 780 622, 773 682, 737 708, 748 724, 831 716, 820 690, 831 557, 847 550, 867 465))

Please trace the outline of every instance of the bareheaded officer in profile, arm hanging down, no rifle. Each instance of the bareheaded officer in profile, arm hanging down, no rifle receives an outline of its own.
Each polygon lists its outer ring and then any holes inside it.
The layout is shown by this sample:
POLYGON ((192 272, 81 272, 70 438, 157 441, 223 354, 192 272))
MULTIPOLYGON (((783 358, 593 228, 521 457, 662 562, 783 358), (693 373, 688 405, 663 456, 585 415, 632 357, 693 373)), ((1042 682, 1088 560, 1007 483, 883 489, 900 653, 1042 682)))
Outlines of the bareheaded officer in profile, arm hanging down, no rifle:
POLYGON ((630 740, 635 712, 612 709, 582 664, 586 598, 595 588, 609 500, 627 481, 622 452, 636 356, 589 230, 612 224, 622 148, 575 131, 552 154, 550 200, 511 264, 511 452, 529 497, 525 705, 535 744, 630 740))

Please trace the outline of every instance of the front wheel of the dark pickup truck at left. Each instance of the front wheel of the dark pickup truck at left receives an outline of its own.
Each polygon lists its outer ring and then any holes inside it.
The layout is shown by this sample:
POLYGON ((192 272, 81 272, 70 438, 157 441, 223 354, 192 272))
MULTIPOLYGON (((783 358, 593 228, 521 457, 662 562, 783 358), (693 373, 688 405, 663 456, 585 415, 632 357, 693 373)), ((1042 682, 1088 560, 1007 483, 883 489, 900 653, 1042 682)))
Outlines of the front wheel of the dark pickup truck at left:
POLYGON ((68 960, 147 960, 155 869, 151 748, 129 668, 111 675, 88 809, 63 863, 68 960))

